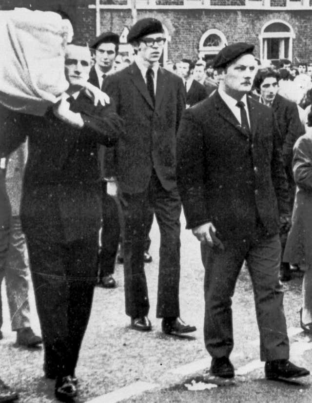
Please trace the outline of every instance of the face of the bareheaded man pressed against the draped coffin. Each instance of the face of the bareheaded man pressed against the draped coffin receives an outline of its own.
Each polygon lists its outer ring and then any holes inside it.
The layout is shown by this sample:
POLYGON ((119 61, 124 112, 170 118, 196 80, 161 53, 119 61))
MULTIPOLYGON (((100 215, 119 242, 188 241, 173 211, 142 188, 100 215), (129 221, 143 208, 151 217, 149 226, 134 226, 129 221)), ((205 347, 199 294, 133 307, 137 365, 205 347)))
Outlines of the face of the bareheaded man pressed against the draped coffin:
POLYGON ((91 54, 86 46, 68 45, 65 57, 65 77, 71 87, 79 90, 89 78, 91 54))

